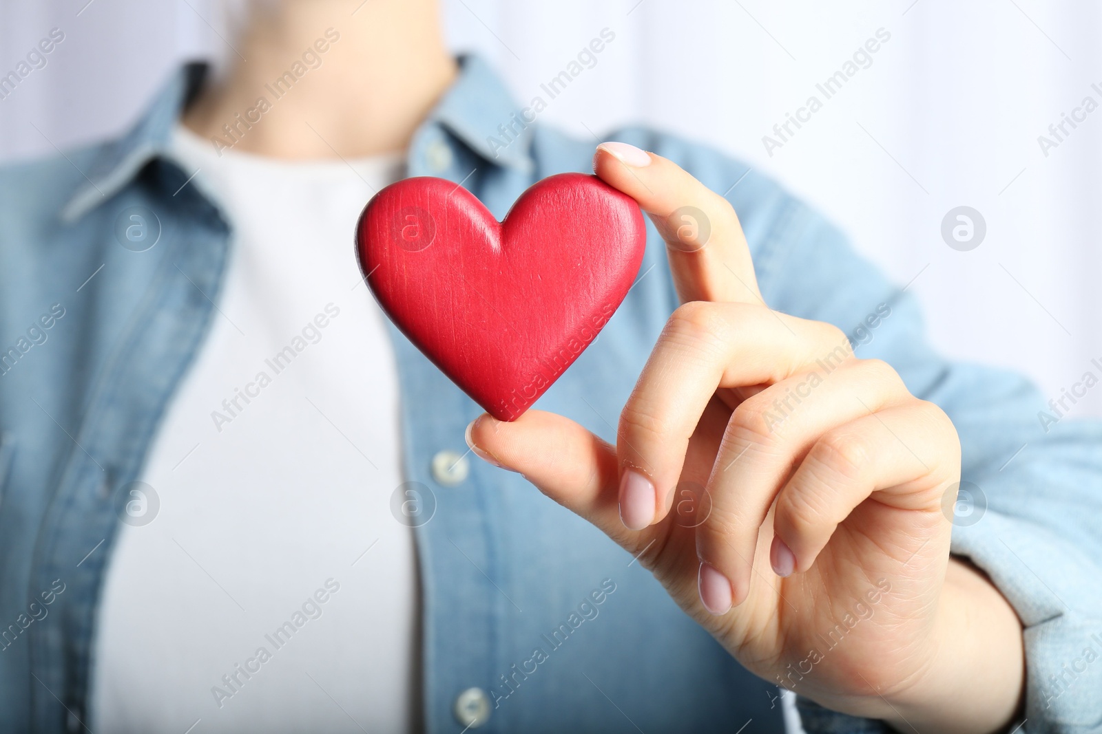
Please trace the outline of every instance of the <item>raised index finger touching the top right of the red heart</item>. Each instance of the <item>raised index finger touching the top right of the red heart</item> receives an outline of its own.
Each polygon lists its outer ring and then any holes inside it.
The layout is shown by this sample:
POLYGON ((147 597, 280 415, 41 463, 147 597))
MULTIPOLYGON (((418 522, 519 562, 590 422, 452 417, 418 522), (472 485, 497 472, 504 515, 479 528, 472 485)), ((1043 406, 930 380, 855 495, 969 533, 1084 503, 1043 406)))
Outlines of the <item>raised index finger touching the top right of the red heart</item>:
POLYGON ((601 143, 593 172, 655 222, 681 303, 764 304, 742 224, 725 198, 672 161, 627 143, 601 143))

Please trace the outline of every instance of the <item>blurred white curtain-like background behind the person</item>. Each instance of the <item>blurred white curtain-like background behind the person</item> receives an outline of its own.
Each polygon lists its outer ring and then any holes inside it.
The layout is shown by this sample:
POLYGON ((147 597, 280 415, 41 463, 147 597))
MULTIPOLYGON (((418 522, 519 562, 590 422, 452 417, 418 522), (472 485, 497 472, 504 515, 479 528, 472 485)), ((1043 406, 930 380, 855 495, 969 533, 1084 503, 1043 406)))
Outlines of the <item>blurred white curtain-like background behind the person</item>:
MULTIPOLYGON (((52 28, 65 41, 0 100, 0 162, 117 134, 180 61, 231 53, 220 1, 2 0, 0 74, 52 28)), ((542 123, 588 139, 587 129, 641 121, 707 141, 779 178, 897 283, 911 283, 943 352, 1025 371, 1050 397, 1087 371, 1102 376, 1102 110, 1066 127, 1047 155, 1038 144, 1084 97, 1102 103, 1102 6, 444 3, 453 46, 487 57, 523 102, 612 30, 615 42, 551 101, 542 123), (872 64, 770 155, 763 136, 809 96, 823 99, 815 85, 878 29, 890 40, 872 64), (941 235, 959 206, 986 222, 985 239, 966 252, 941 235)), ((1102 415, 1102 385, 1071 412, 1091 414, 1102 415)))

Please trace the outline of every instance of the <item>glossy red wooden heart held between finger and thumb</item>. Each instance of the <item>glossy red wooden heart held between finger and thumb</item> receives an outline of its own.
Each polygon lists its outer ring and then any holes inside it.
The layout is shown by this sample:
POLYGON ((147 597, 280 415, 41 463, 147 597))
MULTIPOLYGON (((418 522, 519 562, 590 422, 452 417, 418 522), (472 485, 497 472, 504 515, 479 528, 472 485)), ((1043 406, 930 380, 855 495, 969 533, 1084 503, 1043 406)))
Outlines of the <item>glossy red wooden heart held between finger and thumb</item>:
POLYGON ((559 174, 500 223, 466 189, 408 178, 365 207, 360 267, 382 309, 487 413, 515 420, 596 338, 646 248, 635 200, 559 174))

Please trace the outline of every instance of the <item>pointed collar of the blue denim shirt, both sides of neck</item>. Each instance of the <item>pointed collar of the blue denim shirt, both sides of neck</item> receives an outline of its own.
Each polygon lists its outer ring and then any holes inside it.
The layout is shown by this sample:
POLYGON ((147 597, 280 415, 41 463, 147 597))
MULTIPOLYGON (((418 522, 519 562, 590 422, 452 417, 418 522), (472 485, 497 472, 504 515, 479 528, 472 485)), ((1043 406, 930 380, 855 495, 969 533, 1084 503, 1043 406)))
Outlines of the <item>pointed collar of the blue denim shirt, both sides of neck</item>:
MULTIPOLYGON (((62 209, 65 221, 75 221, 106 201, 155 157, 168 156, 172 129, 203 86, 205 63, 185 64, 162 87, 145 114, 121 138, 106 143, 87 179, 62 209)), ((460 58, 460 76, 444 92, 425 124, 450 130, 490 165, 529 171, 530 122, 526 122, 501 79, 477 56, 460 58)))

